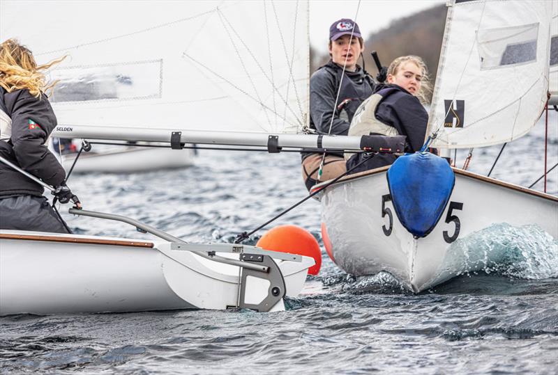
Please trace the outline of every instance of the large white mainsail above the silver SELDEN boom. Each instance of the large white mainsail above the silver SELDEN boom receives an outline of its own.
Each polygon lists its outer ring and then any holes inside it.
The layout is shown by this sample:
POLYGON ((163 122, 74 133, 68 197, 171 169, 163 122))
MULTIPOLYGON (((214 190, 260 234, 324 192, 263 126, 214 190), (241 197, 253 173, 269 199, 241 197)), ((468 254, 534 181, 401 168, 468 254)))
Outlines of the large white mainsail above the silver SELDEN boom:
POLYGON ((52 70, 59 125, 296 133, 307 1, 2 1, 2 40, 52 70))

